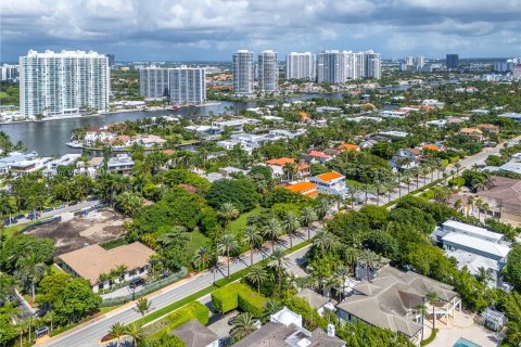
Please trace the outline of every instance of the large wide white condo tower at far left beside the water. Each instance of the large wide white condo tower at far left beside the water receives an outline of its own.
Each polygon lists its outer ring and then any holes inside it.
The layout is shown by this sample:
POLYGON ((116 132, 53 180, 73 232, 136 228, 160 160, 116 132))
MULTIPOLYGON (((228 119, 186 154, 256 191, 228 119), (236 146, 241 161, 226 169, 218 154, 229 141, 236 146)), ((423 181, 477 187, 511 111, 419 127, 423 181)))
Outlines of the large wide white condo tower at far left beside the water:
POLYGON ((109 59, 97 52, 29 51, 20 57, 20 108, 35 117, 104 111, 110 94, 109 59))

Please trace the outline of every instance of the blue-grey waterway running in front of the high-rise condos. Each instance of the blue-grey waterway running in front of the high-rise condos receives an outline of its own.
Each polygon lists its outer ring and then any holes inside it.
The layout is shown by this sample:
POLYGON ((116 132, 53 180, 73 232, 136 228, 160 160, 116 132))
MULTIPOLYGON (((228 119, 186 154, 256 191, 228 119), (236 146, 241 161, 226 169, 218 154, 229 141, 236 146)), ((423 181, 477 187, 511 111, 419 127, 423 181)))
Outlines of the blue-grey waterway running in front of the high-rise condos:
MULTIPOLYGON (((342 98, 342 93, 302 94, 295 98, 289 98, 288 101, 312 98, 340 99, 342 98)), ((177 111, 136 111, 50 121, 3 124, 0 125, 0 131, 8 133, 12 142, 22 141, 28 150, 36 151, 41 156, 58 156, 66 153, 81 153, 80 149, 71 149, 65 145, 65 142, 71 138, 71 131, 76 128, 86 126, 102 127, 117 121, 166 115, 179 117, 219 115, 225 111, 230 113, 230 106, 233 107, 232 110, 237 113, 249 107, 254 107, 255 102, 208 102, 208 105, 181 107, 177 111)))

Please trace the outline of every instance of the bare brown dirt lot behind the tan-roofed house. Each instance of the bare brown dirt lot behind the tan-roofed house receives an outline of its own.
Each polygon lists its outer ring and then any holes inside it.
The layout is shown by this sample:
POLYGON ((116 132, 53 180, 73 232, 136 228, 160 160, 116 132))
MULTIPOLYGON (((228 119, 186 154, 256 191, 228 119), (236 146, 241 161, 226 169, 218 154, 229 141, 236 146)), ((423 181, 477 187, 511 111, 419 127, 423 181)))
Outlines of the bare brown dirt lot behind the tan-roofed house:
MULTIPOLYGON (((65 216, 64 216, 65 217, 65 216)), ((62 218, 56 224, 41 226, 30 235, 54 240, 56 255, 84 247, 84 244, 103 243, 124 235, 123 223, 127 220, 111 208, 91 211, 86 217, 62 218)))

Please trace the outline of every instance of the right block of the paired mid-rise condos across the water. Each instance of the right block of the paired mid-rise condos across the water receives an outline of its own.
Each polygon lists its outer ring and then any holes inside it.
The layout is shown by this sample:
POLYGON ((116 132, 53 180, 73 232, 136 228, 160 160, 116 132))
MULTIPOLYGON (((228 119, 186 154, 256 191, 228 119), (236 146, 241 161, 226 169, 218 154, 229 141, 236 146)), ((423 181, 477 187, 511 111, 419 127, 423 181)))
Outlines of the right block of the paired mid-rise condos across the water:
POLYGON ((169 68, 170 102, 174 104, 201 104, 206 101, 204 68, 169 68))

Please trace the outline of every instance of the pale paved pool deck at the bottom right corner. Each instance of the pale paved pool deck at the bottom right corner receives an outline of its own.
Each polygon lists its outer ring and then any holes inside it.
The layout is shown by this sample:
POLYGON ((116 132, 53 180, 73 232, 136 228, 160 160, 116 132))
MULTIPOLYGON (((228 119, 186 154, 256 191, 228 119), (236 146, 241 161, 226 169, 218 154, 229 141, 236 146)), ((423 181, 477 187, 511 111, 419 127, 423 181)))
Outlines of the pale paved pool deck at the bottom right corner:
MULTIPOLYGON (((503 332, 495 333, 474 324, 473 318, 472 313, 456 311, 455 317, 449 319, 448 325, 445 322, 445 318, 437 320, 436 329, 439 329, 439 332, 436 338, 429 344, 429 347, 452 347, 460 337, 481 347, 498 346, 505 334, 503 332)), ((425 338, 430 336, 431 327, 432 322, 425 320, 425 338)))

